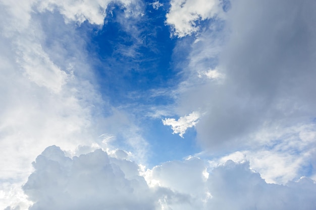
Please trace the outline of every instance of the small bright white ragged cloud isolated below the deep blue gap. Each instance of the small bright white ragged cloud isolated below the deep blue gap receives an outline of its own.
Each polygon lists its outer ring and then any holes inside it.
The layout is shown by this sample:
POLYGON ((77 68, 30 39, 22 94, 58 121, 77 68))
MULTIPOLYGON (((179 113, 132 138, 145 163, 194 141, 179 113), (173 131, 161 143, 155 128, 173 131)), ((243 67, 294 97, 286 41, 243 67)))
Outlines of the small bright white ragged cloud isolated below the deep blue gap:
POLYGON ((199 112, 192 112, 189 115, 184 117, 180 117, 178 120, 174 118, 165 118, 163 119, 164 125, 170 125, 173 129, 173 133, 179 133, 179 135, 183 138, 183 134, 186 129, 189 127, 194 127, 200 118, 199 112))

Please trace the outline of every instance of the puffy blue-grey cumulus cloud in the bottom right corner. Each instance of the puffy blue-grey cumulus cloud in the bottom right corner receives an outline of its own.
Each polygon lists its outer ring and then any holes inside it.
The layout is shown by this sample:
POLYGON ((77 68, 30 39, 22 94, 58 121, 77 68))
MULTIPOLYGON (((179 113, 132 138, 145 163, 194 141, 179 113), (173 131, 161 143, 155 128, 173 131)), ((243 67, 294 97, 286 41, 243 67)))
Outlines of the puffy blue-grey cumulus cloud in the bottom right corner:
POLYGON ((258 173, 249 170, 247 162, 227 161, 209 174, 212 198, 207 204, 217 209, 312 209, 315 186, 308 178, 288 185, 267 184, 258 173))

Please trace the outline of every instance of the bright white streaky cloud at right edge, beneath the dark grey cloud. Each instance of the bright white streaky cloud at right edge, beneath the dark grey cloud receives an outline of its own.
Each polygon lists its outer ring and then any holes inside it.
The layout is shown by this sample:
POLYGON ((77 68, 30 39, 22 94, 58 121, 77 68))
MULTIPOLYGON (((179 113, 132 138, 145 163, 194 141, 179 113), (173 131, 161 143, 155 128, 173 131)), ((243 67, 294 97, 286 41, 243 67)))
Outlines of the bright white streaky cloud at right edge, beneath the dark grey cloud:
MULTIPOLYGON (((301 176, 313 178, 316 174, 311 164, 315 154, 315 134, 313 124, 292 126, 282 132, 271 128, 262 129, 252 136, 249 142, 251 147, 244 147, 247 150, 219 156, 209 164, 216 167, 228 160, 249 162, 251 169, 260 173, 268 183, 286 184, 301 176), (253 146, 253 142, 256 146, 253 146)), ((198 154, 197 157, 205 158, 205 154, 198 154)))

